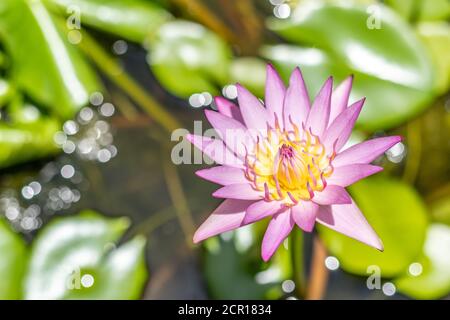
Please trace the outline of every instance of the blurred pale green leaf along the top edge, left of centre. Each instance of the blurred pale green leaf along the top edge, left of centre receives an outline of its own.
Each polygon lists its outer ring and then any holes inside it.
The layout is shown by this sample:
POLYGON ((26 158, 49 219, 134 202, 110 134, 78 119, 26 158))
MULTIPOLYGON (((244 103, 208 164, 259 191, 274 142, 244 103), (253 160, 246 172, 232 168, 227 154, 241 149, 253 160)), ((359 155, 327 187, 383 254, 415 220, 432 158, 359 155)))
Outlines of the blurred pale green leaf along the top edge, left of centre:
POLYGON ((166 10, 142 0, 44 0, 70 19, 124 39, 143 43, 171 18, 166 10))

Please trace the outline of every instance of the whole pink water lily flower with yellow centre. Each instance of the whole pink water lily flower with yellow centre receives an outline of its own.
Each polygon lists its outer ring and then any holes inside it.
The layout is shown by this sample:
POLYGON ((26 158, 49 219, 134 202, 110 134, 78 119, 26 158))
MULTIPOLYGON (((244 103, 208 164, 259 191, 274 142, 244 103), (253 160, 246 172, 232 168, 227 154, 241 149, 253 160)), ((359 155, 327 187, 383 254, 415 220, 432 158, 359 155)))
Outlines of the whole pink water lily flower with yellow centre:
POLYGON ((348 77, 333 90, 330 77, 311 105, 300 69, 286 89, 268 65, 265 106, 239 84, 239 107, 216 98, 219 112, 205 113, 220 139, 187 138, 220 164, 197 174, 222 185, 213 196, 225 201, 197 230, 195 243, 270 217, 262 242, 264 261, 295 224, 310 232, 316 222, 383 250, 345 187, 381 171, 370 162, 401 137, 343 148, 364 103, 347 106, 352 80, 348 77))

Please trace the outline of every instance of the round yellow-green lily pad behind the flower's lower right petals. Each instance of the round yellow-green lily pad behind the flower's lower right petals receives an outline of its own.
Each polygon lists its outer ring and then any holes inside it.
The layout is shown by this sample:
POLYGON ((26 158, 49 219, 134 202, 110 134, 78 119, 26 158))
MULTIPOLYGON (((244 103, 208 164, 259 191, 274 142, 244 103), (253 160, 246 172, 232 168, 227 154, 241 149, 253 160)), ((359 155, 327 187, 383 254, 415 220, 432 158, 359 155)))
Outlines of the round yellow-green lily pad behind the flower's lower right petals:
POLYGON ((351 273, 367 275, 371 265, 380 267, 383 277, 403 273, 420 255, 425 239, 428 223, 420 196, 409 185, 385 177, 364 179, 349 190, 383 241, 384 252, 319 226, 328 250, 351 273))

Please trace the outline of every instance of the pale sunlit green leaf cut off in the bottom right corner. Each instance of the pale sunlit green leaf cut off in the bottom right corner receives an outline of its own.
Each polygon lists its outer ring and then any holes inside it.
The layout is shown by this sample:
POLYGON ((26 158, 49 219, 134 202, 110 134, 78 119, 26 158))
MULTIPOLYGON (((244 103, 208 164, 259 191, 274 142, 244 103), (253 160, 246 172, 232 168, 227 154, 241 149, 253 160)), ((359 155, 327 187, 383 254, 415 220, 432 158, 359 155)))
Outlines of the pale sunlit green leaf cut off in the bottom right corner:
MULTIPOLYGON (((450 227, 433 224, 428 229, 420 274, 409 273, 395 280, 397 289, 415 299, 438 299, 450 293, 450 227)), ((419 267, 420 268, 420 267, 419 267)), ((412 272, 411 272, 412 271, 412 272)))

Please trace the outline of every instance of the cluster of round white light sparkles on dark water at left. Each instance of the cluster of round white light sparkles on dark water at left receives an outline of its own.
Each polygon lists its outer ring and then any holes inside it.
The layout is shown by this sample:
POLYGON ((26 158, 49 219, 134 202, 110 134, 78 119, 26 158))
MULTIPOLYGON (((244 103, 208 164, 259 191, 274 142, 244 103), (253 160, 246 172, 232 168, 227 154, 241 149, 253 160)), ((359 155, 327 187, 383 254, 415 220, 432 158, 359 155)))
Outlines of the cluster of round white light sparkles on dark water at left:
POLYGON ((55 134, 54 142, 70 156, 45 164, 34 177, 23 178, 18 188, 14 188, 13 178, 12 184, 0 193, 0 211, 15 230, 29 234, 49 216, 80 201, 81 190, 86 190, 89 183, 77 161, 106 163, 117 155, 113 132, 106 121, 114 115, 115 108, 103 100, 101 93, 92 94, 92 106, 80 110, 76 120, 66 121, 62 131, 55 134))

